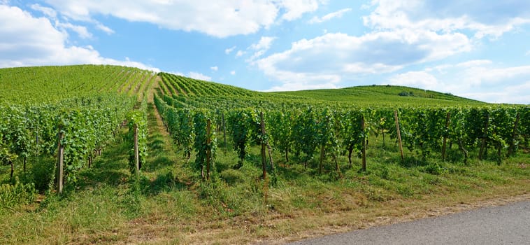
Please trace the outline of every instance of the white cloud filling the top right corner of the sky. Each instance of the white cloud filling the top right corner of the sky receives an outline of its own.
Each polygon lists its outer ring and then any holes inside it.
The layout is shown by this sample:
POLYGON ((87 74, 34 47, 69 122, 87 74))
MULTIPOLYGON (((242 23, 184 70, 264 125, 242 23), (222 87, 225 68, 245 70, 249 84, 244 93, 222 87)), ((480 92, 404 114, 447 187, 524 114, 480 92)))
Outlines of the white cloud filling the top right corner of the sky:
POLYGON ((373 0, 371 6, 363 20, 374 29, 468 30, 496 38, 530 23, 530 1, 373 0))

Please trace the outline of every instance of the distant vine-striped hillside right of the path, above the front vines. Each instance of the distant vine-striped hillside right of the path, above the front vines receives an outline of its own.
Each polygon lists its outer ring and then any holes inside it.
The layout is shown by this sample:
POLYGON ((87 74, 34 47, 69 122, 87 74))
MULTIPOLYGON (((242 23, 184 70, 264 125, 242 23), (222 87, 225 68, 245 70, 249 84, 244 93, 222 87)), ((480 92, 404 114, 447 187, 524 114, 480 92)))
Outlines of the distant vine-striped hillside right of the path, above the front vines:
POLYGON ((341 89, 301 90, 291 92, 257 92, 241 87, 223 85, 220 83, 185 78, 182 76, 160 73, 163 78, 160 94, 171 96, 200 96, 200 97, 252 97, 264 101, 285 101, 318 104, 340 103, 357 106, 371 105, 435 105, 435 106, 464 106, 485 105, 473 99, 457 97, 430 90, 421 90, 413 87, 370 85, 345 87, 341 89))

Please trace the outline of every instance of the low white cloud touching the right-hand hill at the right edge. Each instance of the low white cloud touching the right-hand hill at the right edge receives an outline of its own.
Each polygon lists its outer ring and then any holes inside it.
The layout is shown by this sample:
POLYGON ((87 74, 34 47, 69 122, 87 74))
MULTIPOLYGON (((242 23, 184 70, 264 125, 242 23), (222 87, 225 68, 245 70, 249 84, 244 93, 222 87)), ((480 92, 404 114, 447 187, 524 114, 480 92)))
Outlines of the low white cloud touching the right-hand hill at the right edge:
POLYGON ((387 83, 451 92, 492 103, 530 103, 530 66, 508 66, 486 59, 444 64, 390 76, 387 83))

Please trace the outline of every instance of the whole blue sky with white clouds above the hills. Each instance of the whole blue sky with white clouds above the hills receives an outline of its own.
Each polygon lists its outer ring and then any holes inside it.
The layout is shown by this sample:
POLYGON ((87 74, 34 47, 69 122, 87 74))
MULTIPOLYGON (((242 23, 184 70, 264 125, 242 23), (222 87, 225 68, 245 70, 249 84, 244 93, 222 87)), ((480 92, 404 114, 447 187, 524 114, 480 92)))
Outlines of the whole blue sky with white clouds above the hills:
POLYGON ((0 0, 0 67, 63 64, 530 104, 530 1, 0 0))

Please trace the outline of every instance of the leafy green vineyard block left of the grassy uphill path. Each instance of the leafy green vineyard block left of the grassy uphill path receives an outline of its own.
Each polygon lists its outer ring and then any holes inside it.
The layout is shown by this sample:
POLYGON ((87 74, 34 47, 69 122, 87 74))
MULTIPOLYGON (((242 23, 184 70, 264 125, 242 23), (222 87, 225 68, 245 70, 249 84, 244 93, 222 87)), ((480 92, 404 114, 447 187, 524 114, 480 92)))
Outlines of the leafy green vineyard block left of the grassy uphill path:
MULTIPOLYGON (((56 160, 64 169, 48 164, 48 171, 25 176, 29 184, 45 191, 55 179, 76 183, 127 119, 144 126, 145 138, 146 91, 155 77, 120 66, 0 69, 6 87, 0 90, 0 162, 10 166, 10 181, 15 165, 25 173, 28 162, 56 160)), ((144 143, 141 155, 146 151, 144 143)))

